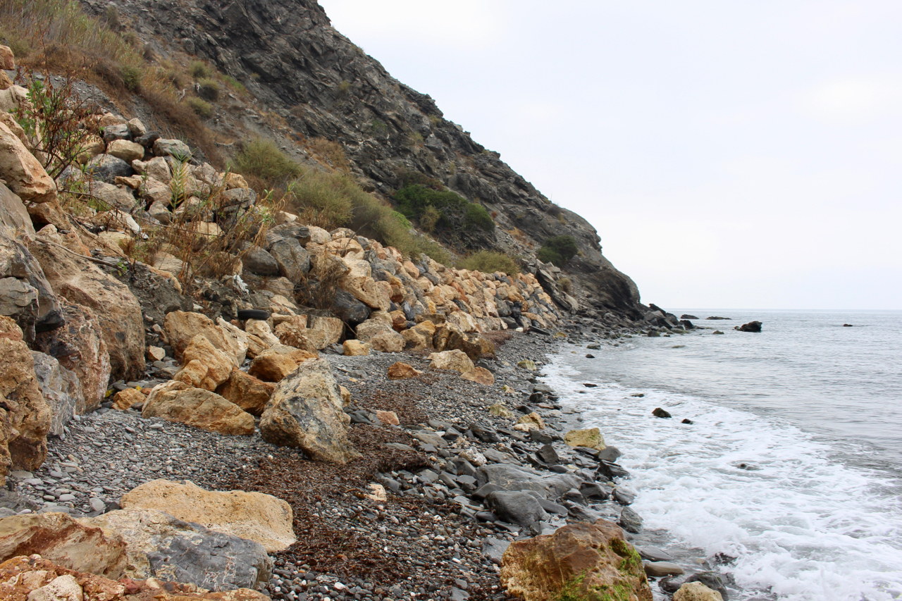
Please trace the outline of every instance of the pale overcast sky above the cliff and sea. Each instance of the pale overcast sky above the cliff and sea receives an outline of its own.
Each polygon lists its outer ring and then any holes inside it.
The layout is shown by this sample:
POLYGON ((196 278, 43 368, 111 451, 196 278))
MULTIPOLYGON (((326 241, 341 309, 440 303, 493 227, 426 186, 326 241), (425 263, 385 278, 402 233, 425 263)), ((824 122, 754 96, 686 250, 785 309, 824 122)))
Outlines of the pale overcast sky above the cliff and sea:
POLYGON ((644 302, 902 309, 902 2, 320 5, 644 302))

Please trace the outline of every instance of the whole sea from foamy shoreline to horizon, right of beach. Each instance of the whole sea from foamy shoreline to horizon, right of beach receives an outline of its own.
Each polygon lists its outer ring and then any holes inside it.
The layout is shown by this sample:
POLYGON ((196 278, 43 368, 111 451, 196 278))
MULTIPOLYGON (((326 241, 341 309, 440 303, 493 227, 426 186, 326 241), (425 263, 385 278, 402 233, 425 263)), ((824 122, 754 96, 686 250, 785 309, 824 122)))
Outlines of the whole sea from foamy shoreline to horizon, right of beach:
POLYGON ((674 312, 732 321, 544 369, 623 451, 645 528, 680 559, 735 558, 732 599, 902 599, 902 311, 674 312))

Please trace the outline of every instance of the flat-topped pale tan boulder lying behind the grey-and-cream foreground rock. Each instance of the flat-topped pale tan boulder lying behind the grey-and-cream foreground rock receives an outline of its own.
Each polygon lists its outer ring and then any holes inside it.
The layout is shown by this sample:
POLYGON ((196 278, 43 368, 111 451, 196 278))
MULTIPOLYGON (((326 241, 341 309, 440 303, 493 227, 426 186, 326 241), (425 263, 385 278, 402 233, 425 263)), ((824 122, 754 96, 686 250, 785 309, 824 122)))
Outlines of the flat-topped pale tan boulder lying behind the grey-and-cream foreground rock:
POLYGON ((125 493, 119 504, 123 509, 157 509, 185 522, 259 542, 270 553, 286 550, 297 541, 291 506, 272 495, 208 491, 188 481, 153 480, 125 493))

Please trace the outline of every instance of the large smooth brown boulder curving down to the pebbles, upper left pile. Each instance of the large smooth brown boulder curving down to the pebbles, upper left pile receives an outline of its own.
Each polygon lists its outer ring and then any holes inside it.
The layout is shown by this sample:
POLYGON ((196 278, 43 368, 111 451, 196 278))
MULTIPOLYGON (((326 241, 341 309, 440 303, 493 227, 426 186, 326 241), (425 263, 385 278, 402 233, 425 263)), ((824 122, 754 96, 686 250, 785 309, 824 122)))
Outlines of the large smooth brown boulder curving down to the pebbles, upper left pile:
POLYGON ((132 291, 87 258, 59 246, 34 241, 31 250, 53 291, 95 311, 113 377, 132 380, 143 376, 144 321, 132 291))

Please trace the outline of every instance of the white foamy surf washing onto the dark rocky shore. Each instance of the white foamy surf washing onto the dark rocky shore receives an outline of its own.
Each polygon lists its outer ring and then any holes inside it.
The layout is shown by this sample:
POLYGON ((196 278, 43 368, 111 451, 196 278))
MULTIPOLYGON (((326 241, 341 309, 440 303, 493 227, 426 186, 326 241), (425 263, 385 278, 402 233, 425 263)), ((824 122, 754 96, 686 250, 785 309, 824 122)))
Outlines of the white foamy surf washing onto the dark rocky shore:
POLYGON ((647 528, 665 529, 706 557, 738 558, 723 569, 743 589, 739 598, 902 599, 902 504, 888 493, 894 483, 833 463, 831 449, 805 432, 748 411, 621 384, 585 388, 589 368, 575 356, 555 356, 545 381, 623 451, 621 464, 640 492, 633 508, 647 528), (658 406, 674 419, 652 417, 658 406))

